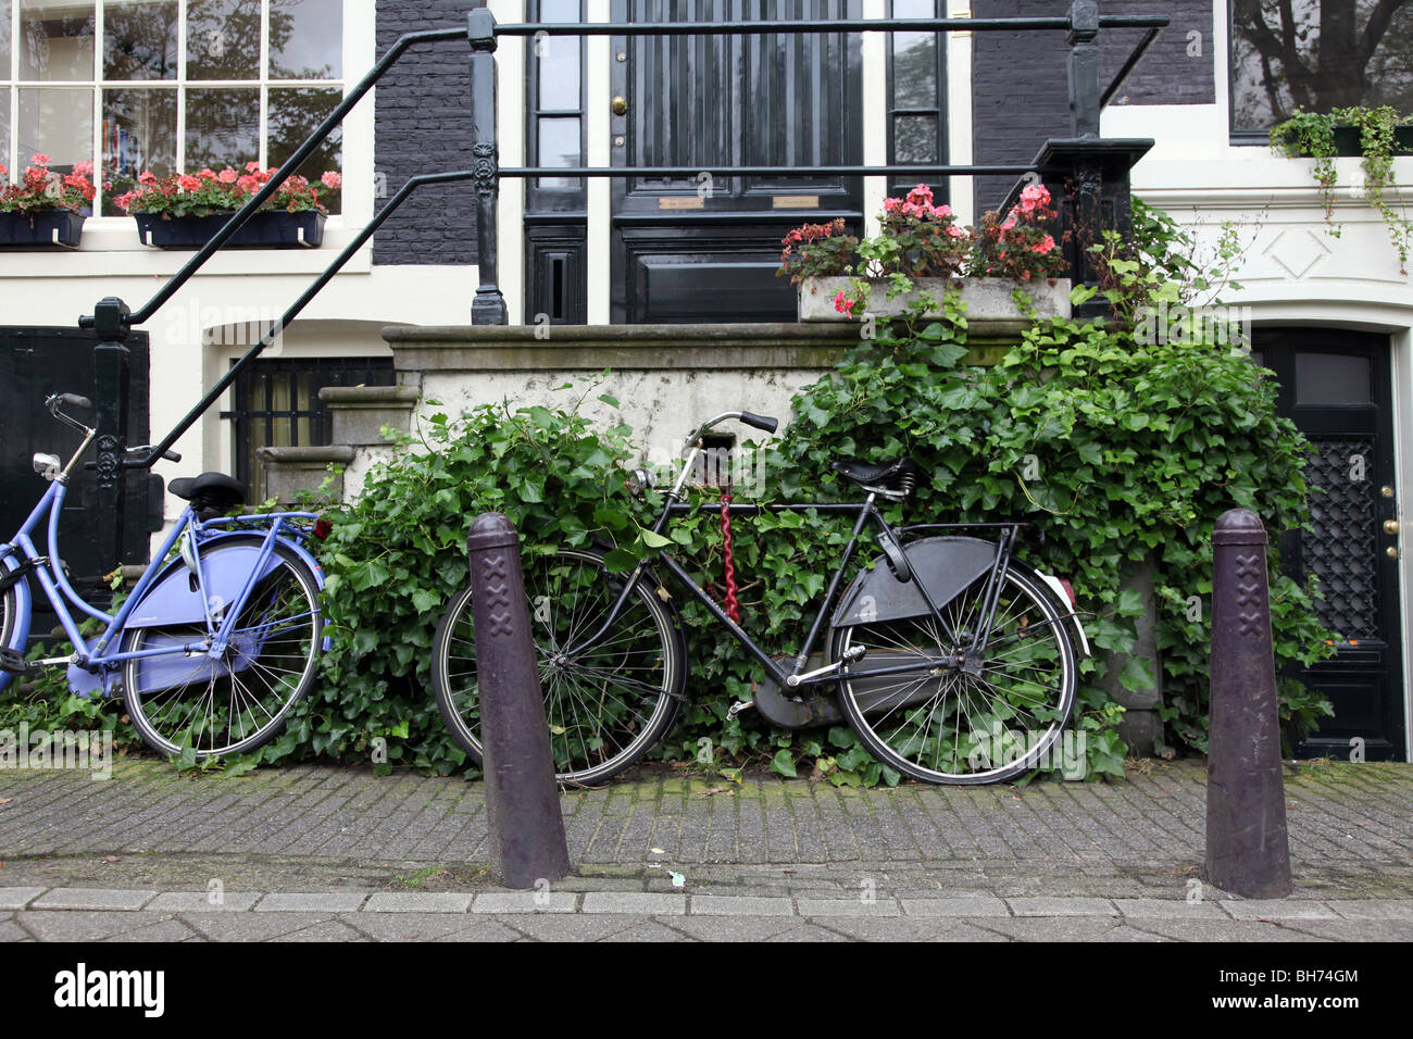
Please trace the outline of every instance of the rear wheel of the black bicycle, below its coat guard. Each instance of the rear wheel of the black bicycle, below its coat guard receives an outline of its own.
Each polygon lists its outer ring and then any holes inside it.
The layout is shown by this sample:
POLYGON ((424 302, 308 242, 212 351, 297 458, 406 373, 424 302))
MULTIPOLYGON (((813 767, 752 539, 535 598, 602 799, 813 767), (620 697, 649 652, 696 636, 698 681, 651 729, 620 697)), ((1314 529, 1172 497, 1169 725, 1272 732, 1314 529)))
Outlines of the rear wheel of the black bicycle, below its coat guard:
MULTIPOLYGON (((1043 763, 1074 707, 1077 663, 1070 621, 1024 563, 1010 561, 979 660, 957 666, 985 605, 989 574, 933 616, 839 628, 834 659, 845 664, 839 705, 880 762, 928 783, 995 783, 1043 763), (869 676, 907 664, 918 670, 869 676)), ((1068 749, 1068 748, 1067 748, 1068 749)), ((1082 765, 1082 762, 1081 762, 1082 765)))

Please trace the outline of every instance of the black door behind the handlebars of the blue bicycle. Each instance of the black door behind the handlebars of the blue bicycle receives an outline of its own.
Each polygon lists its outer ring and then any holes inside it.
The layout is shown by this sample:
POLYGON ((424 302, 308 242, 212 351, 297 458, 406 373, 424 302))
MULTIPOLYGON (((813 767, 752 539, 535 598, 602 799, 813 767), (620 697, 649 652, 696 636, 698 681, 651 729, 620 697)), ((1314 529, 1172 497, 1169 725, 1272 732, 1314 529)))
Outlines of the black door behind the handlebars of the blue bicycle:
MULTIPOLYGON (((92 332, 76 328, 0 328, 0 539, 8 540, 24 523, 45 491, 44 478, 34 472, 31 458, 37 451, 68 461, 82 437, 55 421, 44 407, 52 393, 78 393, 93 397, 92 332)), ((148 442, 148 342, 146 332, 129 339, 133 383, 130 387, 129 444, 148 442)), ((93 421, 93 413, 75 411, 75 417, 93 421)), ((92 454, 89 457, 92 461, 92 454)), ((123 561, 144 564, 148 534, 161 527, 161 482, 146 472, 129 474, 126 543, 123 561), (154 526, 155 524, 155 526, 154 526)), ((59 517, 64 561, 75 587, 93 602, 106 598, 99 575, 112 570, 112 560, 99 558, 100 524, 112 516, 95 509, 96 481, 88 469, 75 472, 59 517)), ((32 534, 41 548, 48 543, 45 529, 32 534)), ((35 602, 42 609, 44 602, 35 602)))

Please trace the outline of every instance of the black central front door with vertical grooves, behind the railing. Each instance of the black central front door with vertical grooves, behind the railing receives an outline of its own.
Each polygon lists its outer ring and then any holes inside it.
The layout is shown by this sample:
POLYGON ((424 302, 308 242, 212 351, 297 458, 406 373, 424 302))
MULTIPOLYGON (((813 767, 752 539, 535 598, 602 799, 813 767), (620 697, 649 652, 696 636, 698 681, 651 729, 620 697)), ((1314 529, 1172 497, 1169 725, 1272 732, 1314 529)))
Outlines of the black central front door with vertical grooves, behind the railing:
MULTIPOLYGON (((615 0, 615 21, 824 21, 859 0, 615 0)), ((613 165, 862 161, 859 37, 615 37, 613 165), (622 115, 619 115, 622 109, 622 115)), ((613 188, 613 321, 793 321, 780 239, 844 216, 858 178, 633 177, 613 188)))

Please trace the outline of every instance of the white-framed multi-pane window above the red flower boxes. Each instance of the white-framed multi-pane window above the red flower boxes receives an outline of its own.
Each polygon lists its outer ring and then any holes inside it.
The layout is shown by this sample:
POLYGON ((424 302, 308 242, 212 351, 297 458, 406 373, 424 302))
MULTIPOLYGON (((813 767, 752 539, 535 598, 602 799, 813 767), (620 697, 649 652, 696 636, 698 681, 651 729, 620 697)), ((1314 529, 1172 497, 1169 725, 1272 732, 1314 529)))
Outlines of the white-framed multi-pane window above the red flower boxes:
MULTIPOLYGON (((144 171, 280 165, 342 98, 343 0, 0 0, 0 161, 93 163, 105 215, 144 171)), ((298 172, 341 165, 335 130, 298 172)))

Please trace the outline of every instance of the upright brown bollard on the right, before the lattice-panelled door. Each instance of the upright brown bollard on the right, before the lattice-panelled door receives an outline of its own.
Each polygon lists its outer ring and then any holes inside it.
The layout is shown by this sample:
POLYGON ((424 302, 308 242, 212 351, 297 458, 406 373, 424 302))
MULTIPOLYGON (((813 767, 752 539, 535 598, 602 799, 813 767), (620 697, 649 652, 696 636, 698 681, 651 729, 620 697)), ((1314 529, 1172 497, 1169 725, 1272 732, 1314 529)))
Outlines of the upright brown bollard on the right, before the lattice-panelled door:
POLYGON ((1243 898, 1290 893, 1266 530, 1246 509, 1212 532, 1207 879, 1243 898))

